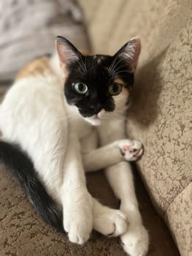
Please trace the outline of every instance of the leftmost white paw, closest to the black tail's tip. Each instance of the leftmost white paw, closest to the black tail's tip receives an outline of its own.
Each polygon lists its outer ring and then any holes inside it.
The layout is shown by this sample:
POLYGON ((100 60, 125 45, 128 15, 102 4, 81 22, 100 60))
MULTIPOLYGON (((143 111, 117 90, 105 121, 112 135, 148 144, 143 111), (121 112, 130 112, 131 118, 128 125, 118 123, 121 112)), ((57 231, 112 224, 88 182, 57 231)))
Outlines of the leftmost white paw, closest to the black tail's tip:
POLYGON ((88 192, 70 197, 64 203, 64 229, 69 241, 84 244, 93 228, 93 200, 88 192))

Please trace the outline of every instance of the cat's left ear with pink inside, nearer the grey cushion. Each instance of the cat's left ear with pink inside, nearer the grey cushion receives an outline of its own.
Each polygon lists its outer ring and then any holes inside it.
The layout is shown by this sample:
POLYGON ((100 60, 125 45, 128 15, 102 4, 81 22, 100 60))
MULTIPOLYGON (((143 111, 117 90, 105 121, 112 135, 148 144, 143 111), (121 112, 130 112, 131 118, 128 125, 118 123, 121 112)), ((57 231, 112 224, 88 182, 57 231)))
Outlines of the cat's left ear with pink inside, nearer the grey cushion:
POLYGON ((80 59, 80 52, 64 37, 56 37, 55 47, 58 53, 61 69, 67 69, 69 64, 80 59))

